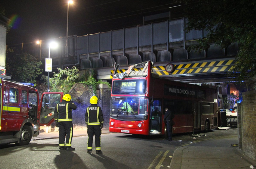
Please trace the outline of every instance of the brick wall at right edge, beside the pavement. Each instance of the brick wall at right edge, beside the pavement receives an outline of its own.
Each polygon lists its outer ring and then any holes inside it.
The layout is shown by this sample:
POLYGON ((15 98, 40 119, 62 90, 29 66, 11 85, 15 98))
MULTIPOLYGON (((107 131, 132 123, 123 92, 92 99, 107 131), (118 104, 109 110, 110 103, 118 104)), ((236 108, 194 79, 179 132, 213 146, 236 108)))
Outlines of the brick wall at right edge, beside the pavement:
POLYGON ((251 159, 256 160, 256 91, 242 93, 241 104, 241 142, 244 153, 251 159))

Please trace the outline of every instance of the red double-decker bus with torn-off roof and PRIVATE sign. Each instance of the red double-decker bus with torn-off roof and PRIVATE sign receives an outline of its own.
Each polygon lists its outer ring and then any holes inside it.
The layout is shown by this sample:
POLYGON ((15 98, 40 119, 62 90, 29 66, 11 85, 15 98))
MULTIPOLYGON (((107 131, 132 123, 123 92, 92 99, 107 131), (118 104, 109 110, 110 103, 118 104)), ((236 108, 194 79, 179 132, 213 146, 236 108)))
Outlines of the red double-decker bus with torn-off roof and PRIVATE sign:
POLYGON ((124 73, 117 67, 112 80, 110 132, 164 135, 165 108, 174 114, 172 133, 217 128, 216 89, 159 78, 151 61, 132 65, 124 73))

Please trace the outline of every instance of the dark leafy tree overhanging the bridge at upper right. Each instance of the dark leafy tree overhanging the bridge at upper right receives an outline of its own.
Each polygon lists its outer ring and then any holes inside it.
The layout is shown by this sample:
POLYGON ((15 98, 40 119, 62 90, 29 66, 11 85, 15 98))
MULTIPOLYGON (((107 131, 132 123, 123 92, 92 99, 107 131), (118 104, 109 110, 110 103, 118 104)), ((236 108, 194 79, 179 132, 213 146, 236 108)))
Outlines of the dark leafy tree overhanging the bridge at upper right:
MULTIPOLYGON (((236 81, 256 80, 256 1, 181 0, 188 18, 186 31, 205 29, 209 33, 191 47, 195 50, 216 44, 226 48, 239 44, 233 72, 236 81)), ((255 81, 254 81, 255 82, 255 81)))

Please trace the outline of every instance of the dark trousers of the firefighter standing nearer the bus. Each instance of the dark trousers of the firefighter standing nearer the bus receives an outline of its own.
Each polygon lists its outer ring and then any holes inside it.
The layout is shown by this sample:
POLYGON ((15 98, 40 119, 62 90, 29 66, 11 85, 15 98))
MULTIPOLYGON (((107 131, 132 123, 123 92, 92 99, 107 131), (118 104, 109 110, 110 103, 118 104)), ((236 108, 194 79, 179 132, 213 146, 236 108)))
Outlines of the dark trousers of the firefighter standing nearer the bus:
POLYGON ((93 137, 95 136, 95 148, 96 151, 101 151, 101 128, 100 125, 97 126, 87 126, 88 142, 87 151, 92 150, 93 137))

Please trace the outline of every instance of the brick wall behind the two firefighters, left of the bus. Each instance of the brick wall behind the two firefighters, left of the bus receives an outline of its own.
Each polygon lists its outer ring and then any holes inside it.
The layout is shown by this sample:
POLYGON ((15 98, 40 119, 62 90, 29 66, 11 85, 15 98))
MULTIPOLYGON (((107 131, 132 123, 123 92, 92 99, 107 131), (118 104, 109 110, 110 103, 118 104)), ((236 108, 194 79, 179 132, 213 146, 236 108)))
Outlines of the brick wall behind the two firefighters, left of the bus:
MULTIPOLYGON (((109 126, 110 119, 110 92, 106 84, 100 84, 97 91, 98 106, 101 107, 104 118, 104 128, 109 126)), ((89 107, 90 98, 93 96, 93 91, 90 87, 85 87, 82 83, 76 83, 69 91, 69 94, 77 106, 76 110, 72 111, 74 129, 85 129, 85 111, 89 107)))

